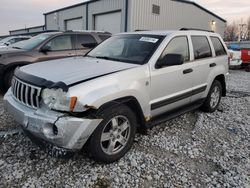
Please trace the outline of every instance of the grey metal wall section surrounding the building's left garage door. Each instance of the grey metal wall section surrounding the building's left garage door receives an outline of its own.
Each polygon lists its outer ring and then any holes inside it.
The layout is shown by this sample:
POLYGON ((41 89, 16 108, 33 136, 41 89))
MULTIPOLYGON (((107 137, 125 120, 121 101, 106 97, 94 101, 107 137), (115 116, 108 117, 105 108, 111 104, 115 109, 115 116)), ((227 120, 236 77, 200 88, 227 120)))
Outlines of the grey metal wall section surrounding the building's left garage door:
POLYGON ((66 20, 82 17, 83 28, 86 26, 86 5, 53 12, 45 15, 47 30, 65 30, 66 20))

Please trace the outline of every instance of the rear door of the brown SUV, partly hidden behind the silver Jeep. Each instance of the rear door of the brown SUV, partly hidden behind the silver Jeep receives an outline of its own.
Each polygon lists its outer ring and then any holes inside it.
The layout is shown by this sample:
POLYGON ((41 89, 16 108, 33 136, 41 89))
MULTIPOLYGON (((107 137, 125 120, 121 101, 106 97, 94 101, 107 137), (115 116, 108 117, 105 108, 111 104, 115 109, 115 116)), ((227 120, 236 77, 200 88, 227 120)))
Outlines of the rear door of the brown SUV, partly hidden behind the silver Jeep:
POLYGON ((83 56, 88 53, 92 48, 98 45, 96 39, 90 34, 77 34, 75 35, 75 49, 76 54, 79 56, 83 56), (93 47, 86 47, 85 44, 93 44, 93 47))

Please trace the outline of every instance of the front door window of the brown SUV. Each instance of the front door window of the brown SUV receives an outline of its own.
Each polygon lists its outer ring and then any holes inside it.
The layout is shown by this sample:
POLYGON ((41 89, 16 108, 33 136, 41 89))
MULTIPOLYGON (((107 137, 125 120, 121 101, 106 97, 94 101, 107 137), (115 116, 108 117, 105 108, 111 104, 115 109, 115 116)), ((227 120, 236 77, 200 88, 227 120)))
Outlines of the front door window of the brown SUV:
POLYGON ((46 46, 51 48, 51 51, 72 50, 72 41, 70 35, 62 35, 53 38, 46 46))

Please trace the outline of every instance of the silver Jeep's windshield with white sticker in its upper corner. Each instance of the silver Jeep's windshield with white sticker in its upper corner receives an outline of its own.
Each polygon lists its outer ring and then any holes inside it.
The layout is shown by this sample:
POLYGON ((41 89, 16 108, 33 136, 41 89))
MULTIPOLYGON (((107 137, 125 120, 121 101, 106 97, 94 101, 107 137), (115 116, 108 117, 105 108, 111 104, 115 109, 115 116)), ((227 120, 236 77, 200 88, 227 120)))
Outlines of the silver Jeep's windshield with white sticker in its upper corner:
POLYGON ((142 65, 155 52, 162 38, 141 34, 114 36, 94 48, 87 56, 142 65))

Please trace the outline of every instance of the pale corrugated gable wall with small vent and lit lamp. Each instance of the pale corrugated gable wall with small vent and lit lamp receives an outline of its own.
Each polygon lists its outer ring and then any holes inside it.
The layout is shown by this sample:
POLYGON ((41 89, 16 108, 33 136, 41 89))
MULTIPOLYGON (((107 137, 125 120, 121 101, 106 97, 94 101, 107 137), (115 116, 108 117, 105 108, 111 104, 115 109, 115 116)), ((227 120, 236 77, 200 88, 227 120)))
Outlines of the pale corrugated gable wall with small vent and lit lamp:
POLYGON ((131 31, 189 27, 214 29, 215 32, 224 35, 226 23, 192 4, 171 0, 130 0, 130 3, 131 31), (160 6, 160 15, 152 13, 153 4, 160 6), (216 22, 215 26, 211 25, 212 20, 216 22))

